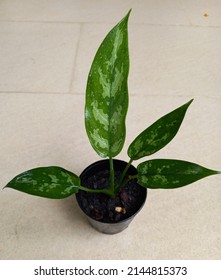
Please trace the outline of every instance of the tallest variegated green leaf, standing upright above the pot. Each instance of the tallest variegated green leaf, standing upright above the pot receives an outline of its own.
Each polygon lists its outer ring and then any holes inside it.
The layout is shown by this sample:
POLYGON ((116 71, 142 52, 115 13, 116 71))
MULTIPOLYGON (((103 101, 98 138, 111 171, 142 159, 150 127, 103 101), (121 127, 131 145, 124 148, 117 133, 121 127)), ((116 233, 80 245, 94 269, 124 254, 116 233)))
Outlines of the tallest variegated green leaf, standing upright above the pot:
POLYGON ((129 14, 108 33, 88 75, 85 126, 92 147, 102 157, 116 156, 125 141, 129 14))

